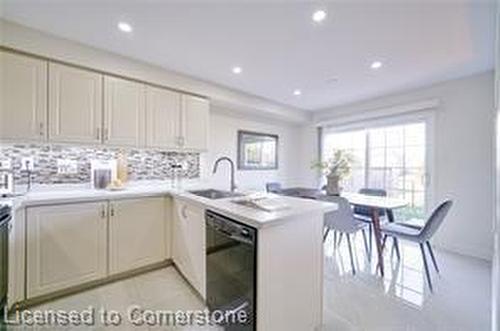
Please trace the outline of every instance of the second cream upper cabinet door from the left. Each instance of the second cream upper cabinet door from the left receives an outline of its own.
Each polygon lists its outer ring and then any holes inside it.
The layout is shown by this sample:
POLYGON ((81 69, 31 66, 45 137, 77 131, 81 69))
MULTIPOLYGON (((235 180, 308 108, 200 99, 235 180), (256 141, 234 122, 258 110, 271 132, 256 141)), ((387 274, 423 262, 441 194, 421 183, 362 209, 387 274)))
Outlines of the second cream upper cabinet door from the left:
POLYGON ((100 143, 102 75, 49 64, 49 140, 100 143))

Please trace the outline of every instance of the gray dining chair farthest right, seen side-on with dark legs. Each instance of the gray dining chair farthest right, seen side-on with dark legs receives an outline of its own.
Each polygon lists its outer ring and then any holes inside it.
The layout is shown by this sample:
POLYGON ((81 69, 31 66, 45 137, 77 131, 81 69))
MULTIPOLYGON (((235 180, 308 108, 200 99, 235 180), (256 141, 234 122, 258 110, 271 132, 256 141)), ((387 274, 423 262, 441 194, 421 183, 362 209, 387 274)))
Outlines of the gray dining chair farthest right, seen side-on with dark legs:
MULTIPOLYGON (((408 240, 419 244, 420 252, 422 253, 422 260, 424 262, 425 275, 431 292, 433 291, 432 280, 429 272, 429 266, 427 264, 425 246, 427 246, 432 264, 434 265, 436 272, 439 273, 439 267, 437 265, 436 257, 434 256, 430 240, 443 223, 452 205, 453 201, 451 200, 446 200, 439 204, 439 206, 437 206, 433 210, 422 227, 398 222, 384 223, 381 225, 381 230, 384 236, 408 240)), ((384 242, 386 238, 387 237, 384 237, 384 242)), ((395 245, 397 245, 397 241, 395 241, 395 245)))

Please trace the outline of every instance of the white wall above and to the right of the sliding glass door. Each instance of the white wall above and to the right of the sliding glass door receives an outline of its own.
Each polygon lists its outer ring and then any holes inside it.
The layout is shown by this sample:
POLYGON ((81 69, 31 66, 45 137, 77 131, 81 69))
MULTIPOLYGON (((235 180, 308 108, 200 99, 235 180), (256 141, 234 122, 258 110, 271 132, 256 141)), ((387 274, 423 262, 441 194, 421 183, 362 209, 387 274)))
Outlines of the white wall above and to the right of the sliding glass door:
MULTIPOLYGON (((438 98, 435 110, 435 202, 452 198, 435 243, 491 260, 494 210, 493 72, 320 111, 316 121, 438 98)), ((305 170, 303 170, 305 171, 305 170)))

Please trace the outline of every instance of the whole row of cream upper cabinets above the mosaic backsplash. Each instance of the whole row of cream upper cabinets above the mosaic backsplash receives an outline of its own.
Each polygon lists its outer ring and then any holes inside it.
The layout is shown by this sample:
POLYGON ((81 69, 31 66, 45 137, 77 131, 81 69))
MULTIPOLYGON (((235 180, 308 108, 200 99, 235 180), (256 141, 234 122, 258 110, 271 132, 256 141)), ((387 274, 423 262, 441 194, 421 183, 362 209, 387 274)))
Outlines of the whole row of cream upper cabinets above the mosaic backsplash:
POLYGON ((208 149, 208 99, 7 51, 0 64, 0 140, 208 149))

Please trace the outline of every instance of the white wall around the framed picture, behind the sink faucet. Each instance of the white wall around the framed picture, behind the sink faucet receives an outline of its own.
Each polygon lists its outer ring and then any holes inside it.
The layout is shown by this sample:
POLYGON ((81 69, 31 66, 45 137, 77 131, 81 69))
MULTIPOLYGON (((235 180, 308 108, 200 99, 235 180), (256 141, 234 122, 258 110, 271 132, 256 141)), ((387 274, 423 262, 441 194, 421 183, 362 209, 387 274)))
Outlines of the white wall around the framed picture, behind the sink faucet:
POLYGON ((258 116, 237 114, 236 111, 211 108, 209 152, 202 155, 202 173, 210 185, 222 189, 229 188, 229 165, 221 164, 212 176, 215 160, 229 156, 237 160, 237 131, 248 130, 277 134, 279 136, 279 167, 277 170, 237 170, 236 181, 239 189, 264 190, 267 182, 278 181, 284 186, 300 184, 300 128, 285 122, 271 121, 258 116))

